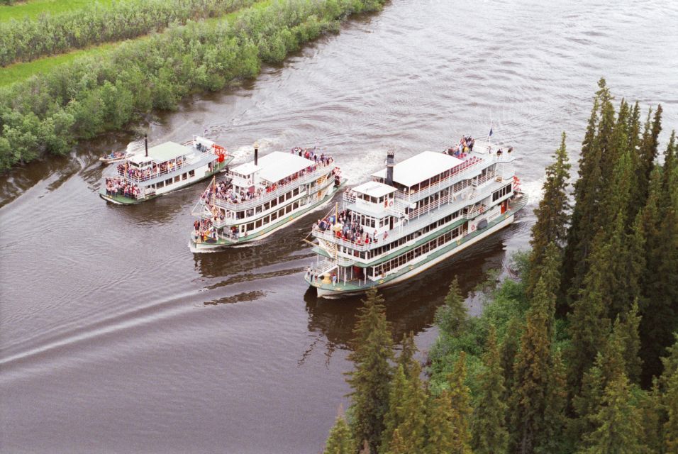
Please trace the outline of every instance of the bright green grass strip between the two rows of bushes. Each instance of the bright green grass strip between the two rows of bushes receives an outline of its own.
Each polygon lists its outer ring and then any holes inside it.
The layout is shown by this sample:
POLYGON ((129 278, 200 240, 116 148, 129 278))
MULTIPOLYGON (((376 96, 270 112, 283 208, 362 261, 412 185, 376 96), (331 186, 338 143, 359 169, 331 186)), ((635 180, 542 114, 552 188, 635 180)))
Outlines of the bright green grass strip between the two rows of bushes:
MULTIPOLYGON (((43 3, 46 1, 50 0, 35 0, 35 3, 43 3)), ((52 1, 60 3, 59 0, 52 1)), ((273 0, 262 0, 255 3, 251 7, 263 9, 272 4, 272 1, 273 0)), ((13 8, 13 6, 8 6, 8 8, 13 8)), ((218 23, 221 23, 224 20, 228 21, 228 23, 233 23, 233 21, 238 18, 238 14, 240 14, 241 11, 233 11, 233 13, 228 13, 226 16, 209 18, 204 22, 211 27, 216 26, 218 23)), ((135 39, 143 40, 145 38, 148 38, 148 35, 140 36, 139 38, 135 39)), ((26 80, 28 77, 35 74, 49 72, 52 70, 52 68, 57 67, 58 65, 63 65, 64 63, 72 62, 78 57, 109 52, 122 42, 123 41, 118 41, 116 43, 105 43, 87 49, 74 50, 61 55, 40 58, 38 60, 33 60, 32 62, 16 63, 14 65, 0 68, 0 87, 5 87, 6 85, 13 84, 14 82, 21 82, 22 80, 26 80)))

